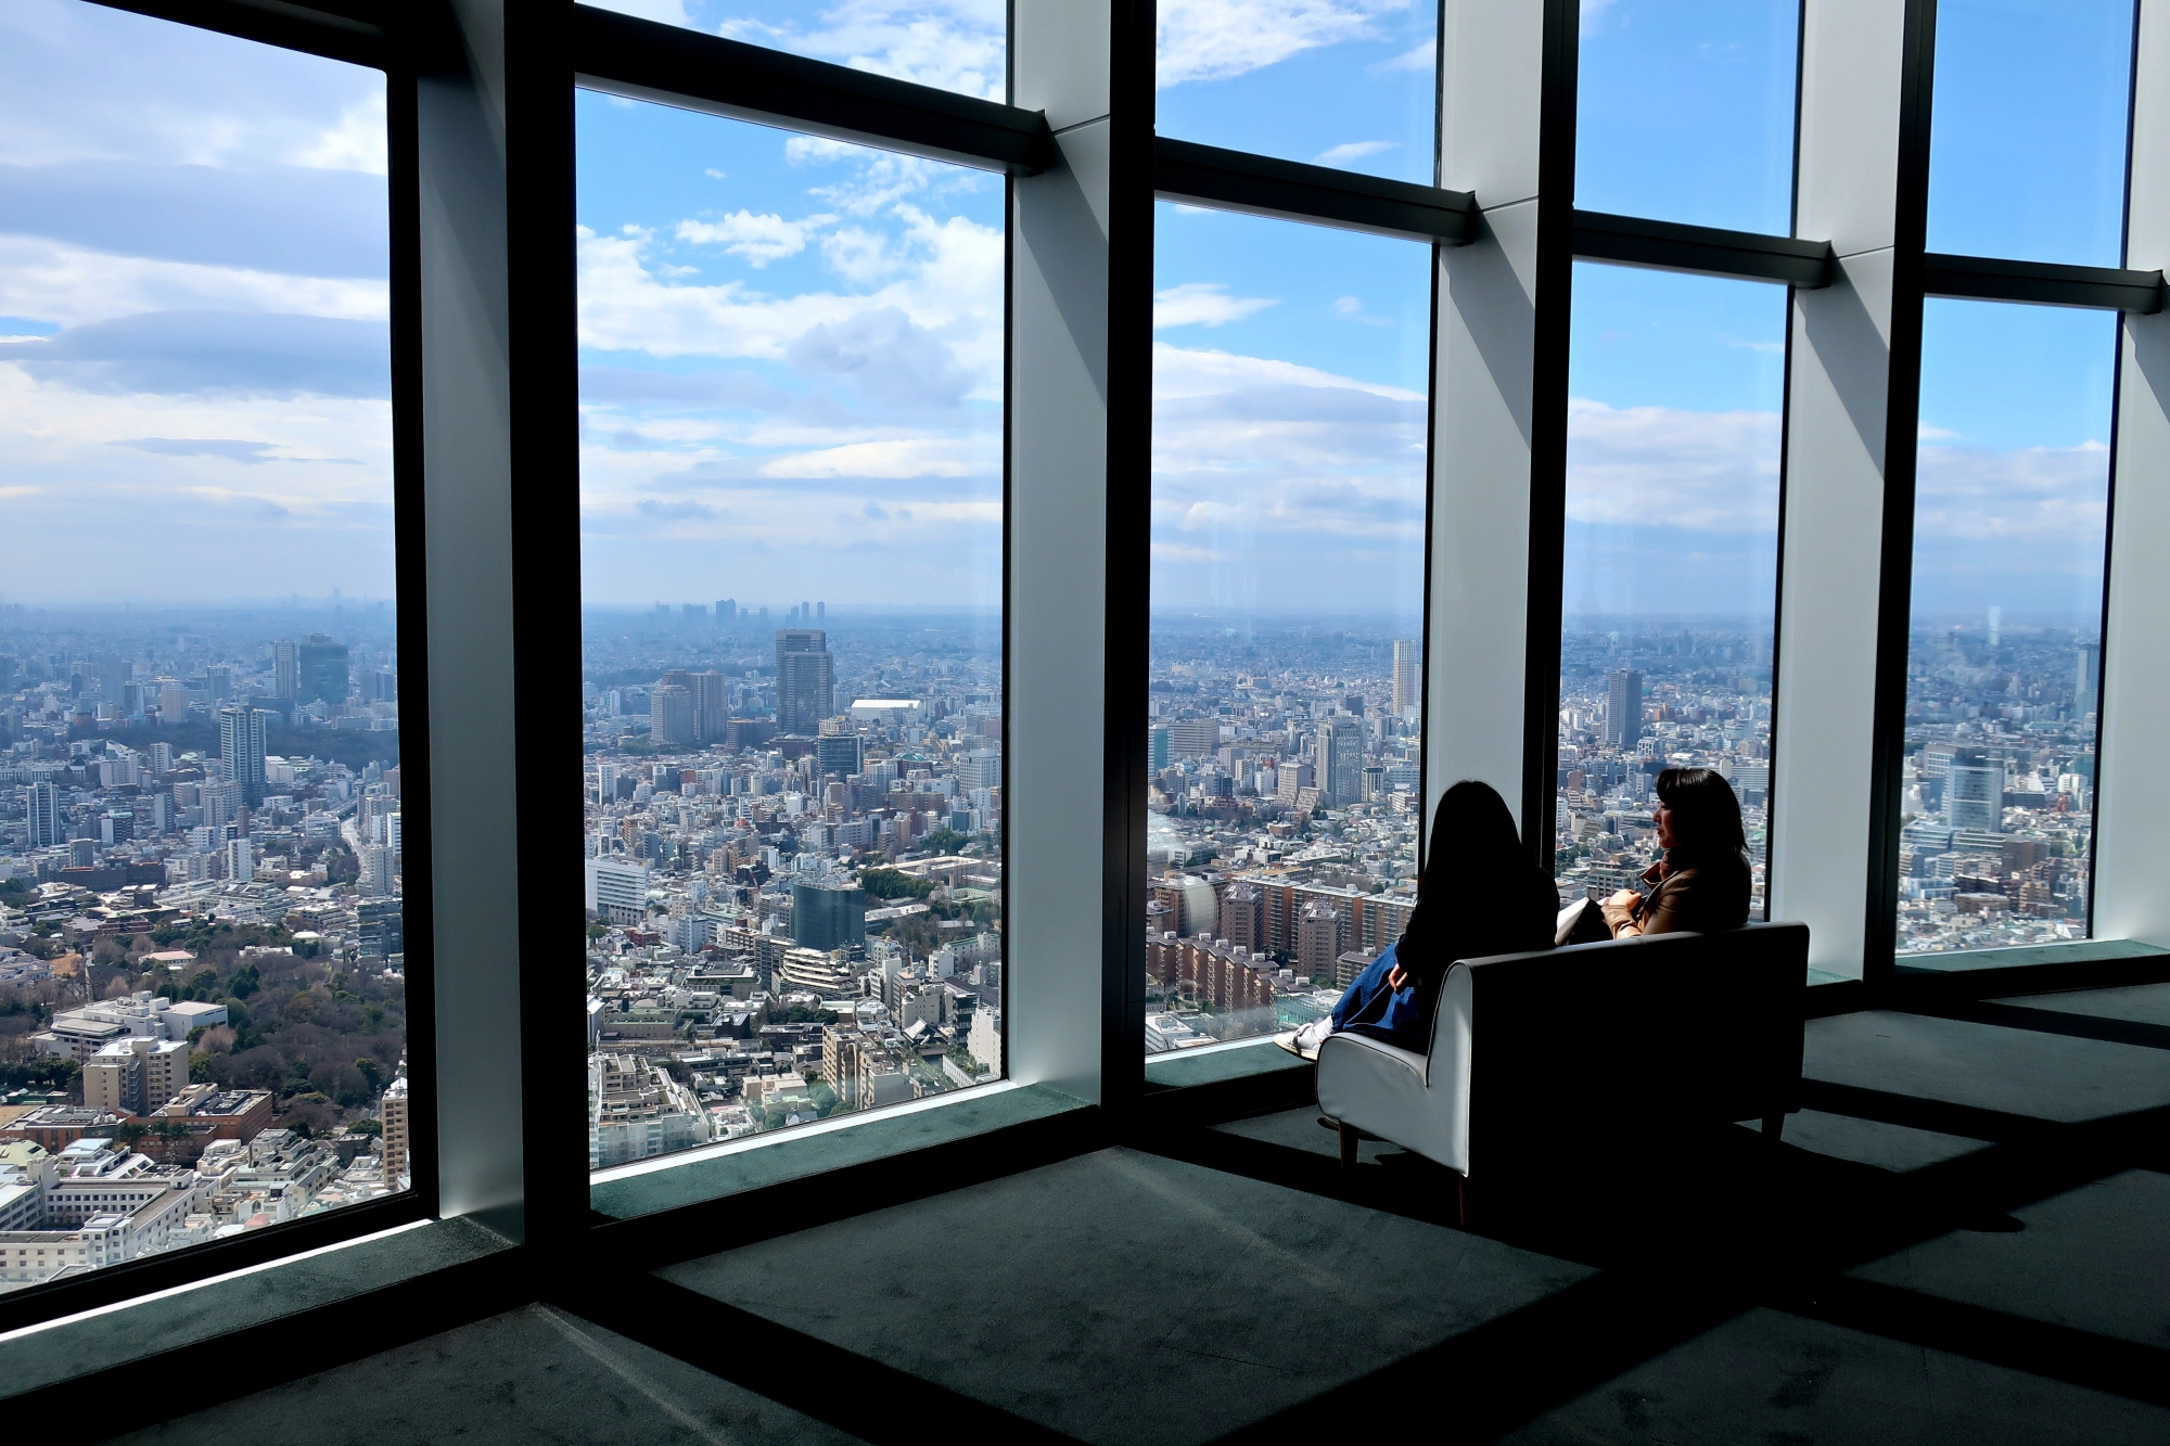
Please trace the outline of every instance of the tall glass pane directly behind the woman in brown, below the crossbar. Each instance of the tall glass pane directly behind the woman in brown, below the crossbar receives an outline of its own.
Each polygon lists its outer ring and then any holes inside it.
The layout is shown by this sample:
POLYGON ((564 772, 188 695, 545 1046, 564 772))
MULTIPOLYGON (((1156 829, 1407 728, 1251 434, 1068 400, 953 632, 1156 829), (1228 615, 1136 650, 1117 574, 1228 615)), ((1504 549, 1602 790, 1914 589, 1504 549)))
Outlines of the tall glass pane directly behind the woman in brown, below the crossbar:
POLYGON ((1716 769, 1760 918, 1786 293, 1578 263, 1569 345, 1560 892, 1628 888, 1656 775, 1716 769))

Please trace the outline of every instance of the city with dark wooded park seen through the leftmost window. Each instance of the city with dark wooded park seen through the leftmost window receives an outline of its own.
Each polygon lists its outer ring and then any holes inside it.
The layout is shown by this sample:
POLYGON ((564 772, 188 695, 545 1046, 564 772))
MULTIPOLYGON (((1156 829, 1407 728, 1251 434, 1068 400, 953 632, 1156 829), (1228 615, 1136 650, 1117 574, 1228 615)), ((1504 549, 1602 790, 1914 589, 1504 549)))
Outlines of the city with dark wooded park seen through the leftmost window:
POLYGON ((0 747, 0 1292, 408 1190, 391 604, 4 604, 0 747))

